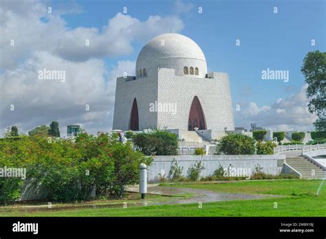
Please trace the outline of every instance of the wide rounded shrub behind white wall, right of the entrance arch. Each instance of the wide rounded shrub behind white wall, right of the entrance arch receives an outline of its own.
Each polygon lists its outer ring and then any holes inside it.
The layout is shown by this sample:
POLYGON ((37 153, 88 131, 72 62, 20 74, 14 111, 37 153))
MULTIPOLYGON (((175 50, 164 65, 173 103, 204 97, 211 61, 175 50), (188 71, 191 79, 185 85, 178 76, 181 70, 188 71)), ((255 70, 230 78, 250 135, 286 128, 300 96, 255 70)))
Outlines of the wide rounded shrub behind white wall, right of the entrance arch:
POLYGON ((253 155, 255 140, 247 135, 226 135, 218 140, 217 152, 226 155, 253 155))

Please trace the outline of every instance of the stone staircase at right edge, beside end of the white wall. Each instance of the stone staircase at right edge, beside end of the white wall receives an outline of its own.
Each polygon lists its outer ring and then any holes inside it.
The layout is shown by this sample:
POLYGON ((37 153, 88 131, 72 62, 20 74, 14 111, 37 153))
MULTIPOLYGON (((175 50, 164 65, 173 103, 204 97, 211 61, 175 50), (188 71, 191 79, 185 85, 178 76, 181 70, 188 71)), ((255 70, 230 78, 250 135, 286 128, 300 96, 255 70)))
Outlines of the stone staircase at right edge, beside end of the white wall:
POLYGON ((326 171, 305 157, 287 157, 285 162, 296 171, 300 172, 303 179, 326 178, 326 171))

